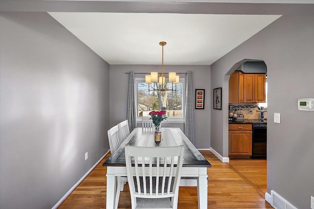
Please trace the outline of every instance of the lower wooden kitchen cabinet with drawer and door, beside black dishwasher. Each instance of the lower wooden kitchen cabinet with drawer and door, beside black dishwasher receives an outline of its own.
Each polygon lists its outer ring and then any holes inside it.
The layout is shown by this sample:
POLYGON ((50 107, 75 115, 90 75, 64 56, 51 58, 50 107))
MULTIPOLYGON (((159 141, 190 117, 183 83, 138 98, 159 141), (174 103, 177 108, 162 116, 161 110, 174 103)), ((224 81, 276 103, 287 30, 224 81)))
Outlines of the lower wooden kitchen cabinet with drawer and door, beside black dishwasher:
POLYGON ((252 155, 252 124, 229 124, 229 158, 243 159, 252 155))

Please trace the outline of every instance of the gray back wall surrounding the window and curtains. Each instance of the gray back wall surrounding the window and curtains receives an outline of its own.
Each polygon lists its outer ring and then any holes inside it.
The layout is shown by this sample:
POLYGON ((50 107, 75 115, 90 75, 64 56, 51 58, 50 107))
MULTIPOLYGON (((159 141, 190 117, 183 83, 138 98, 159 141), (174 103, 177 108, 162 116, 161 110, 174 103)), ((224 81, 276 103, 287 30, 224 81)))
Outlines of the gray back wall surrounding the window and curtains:
MULTIPOLYGON (((129 74, 124 72, 145 72, 161 71, 158 65, 110 65, 110 125, 127 118, 127 100, 129 88, 129 74)), ((195 89, 205 89, 205 109, 194 110, 194 145, 196 148, 210 147, 210 68, 209 66, 164 66, 165 72, 186 72, 192 71, 193 98, 195 89)), ((144 74, 135 74, 136 77, 145 77, 144 74)), ((180 75, 183 77, 184 75, 180 75)), ((195 102, 195 101, 194 101, 195 102)), ((194 105, 194 104, 193 104, 194 105)), ((140 125, 139 125, 140 126, 140 125)), ((163 123, 162 127, 184 128, 183 123, 163 123)))

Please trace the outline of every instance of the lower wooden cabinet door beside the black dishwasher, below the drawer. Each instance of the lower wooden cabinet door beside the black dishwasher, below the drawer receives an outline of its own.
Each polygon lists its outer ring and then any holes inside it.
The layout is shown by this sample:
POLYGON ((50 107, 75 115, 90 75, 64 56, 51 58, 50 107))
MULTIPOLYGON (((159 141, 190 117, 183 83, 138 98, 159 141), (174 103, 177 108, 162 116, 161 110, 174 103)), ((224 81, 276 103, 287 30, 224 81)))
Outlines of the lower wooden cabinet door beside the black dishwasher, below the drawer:
POLYGON ((252 155, 251 131, 229 131, 229 155, 252 155))

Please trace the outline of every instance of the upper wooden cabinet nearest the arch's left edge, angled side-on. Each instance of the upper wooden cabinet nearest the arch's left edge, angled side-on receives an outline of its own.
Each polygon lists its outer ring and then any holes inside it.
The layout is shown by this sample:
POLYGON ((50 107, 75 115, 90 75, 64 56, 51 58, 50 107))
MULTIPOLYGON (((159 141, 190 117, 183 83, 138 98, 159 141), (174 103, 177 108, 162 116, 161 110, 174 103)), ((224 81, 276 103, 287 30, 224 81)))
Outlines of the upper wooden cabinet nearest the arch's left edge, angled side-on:
POLYGON ((235 71, 229 78, 229 103, 243 103, 243 73, 235 71))

